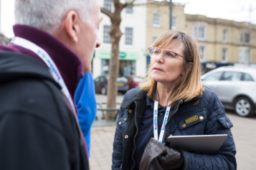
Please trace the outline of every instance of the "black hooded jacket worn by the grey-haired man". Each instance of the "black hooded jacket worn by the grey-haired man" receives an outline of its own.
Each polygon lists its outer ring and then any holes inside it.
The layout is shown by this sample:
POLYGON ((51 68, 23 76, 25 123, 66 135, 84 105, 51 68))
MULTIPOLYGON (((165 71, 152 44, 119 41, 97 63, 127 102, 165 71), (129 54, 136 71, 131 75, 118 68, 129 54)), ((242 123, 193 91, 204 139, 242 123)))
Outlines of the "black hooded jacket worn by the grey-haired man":
POLYGON ((47 66, 0 53, 0 169, 89 169, 75 115, 47 66))

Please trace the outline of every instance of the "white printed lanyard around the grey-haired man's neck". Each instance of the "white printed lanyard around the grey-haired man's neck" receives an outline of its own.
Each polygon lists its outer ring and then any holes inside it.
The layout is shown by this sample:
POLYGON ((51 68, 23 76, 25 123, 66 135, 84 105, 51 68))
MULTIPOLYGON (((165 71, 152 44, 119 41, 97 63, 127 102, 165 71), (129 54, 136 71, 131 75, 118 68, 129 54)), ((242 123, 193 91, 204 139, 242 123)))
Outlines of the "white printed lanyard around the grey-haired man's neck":
POLYGON ((18 46, 24 47, 25 49, 33 51, 42 59, 42 61, 44 61, 44 63, 48 66, 49 72, 50 74, 52 74, 53 79, 57 81, 58 84, 60 84, 60 86, 62 87, 63 94, 65 94, 68 101, 70 102, 70 105, 72 106, 74 113, 76 113, 75 105, 72 101, 72 97, 67 89, 65 81, 62 79, 60 71, 57 69, 57 66, 54 64, 54 61, 52 61, 52 58, 49 56, 49 54, 47 54, 47 52, 44 51, 44 49, 32 43, 31 41, 27 39, 22 39, 18 36, 14 37, 14 39, 11 40, 11 44, 16 44, 18 46))

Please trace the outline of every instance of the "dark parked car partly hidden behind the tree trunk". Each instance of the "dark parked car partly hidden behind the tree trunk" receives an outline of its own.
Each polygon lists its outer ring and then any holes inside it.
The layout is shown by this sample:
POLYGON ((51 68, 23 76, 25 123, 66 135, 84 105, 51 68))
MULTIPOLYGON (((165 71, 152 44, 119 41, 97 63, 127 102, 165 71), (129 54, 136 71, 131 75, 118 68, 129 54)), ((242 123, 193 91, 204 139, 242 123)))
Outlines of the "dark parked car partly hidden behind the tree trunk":
MULTIPOLYGON (((98 76, 95 80, 95 92, 100 94, 107 94, 108 91, 108 76, 98 76)), ((118 77, 118 92, 125 94, 128 90, 128 80, 122 76, 118 77)))

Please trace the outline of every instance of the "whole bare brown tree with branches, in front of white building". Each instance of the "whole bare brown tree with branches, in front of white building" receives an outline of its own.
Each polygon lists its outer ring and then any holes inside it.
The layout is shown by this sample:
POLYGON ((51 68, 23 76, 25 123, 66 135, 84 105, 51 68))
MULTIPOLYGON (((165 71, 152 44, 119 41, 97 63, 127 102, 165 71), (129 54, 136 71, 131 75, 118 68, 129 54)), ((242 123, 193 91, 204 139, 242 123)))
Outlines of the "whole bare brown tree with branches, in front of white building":
MULTIPOLYGON (((124 4, 120 0, 113 0, 114 11, 111 12, 108 9, 101 8, 101 12, 107 15, 111 21, 111 29, 109 31, 111 38, 111 58, 110 58, 110 69, 109 69, 109 79, 108 79, 108 108, 115 107, 115 97, 117 95, 117 83, 118 78, 118 68, 119 68, 119 41, 123 33, 120 31, 120 23, 122 21, 121 12, 127 6, 143 6, 143 5, 166 5, 167 1, 147 1, 144 4, 136 4, 138 0, 126 1, 124 4)), ((105 119, 114 119, 113 111, 107 111, 105 119)))

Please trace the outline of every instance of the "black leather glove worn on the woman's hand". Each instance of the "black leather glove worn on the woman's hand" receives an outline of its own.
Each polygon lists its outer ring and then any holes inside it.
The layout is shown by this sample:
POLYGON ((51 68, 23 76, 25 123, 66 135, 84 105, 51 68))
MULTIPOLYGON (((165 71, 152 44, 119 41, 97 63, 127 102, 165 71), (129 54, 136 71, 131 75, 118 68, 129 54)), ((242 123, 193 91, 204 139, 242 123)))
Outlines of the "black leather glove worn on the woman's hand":
POLYGON ((181 151, 172 149, 169 146, 163 145, 166 148, 166 154, 158 156, 158 162, 162 169, 181 169, 183 166, 183 156, 181 151))

